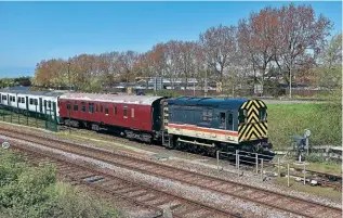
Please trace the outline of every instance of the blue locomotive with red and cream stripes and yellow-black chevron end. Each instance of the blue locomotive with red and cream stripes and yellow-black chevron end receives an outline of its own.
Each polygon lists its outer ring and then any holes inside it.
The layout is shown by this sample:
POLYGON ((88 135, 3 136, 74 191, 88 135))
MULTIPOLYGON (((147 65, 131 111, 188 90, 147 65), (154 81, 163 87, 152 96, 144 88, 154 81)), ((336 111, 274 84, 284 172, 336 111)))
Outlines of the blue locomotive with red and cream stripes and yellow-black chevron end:
POLYGON ((168 102, 166 129, 171 146, 215 152, 263 152, 267 143, 266 105, 260 100, 179 98, 168 102))

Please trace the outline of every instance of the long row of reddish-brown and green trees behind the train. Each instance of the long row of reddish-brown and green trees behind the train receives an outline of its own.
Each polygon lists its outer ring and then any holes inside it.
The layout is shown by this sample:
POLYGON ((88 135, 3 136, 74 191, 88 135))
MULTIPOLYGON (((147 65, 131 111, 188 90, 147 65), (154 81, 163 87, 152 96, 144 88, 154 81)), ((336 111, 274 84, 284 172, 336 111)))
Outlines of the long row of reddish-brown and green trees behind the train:
POLYGON ((291 78, 337 88, 342 34, 329 40, 332 29, 333 23, 317 16, 312 5, 266 7, 237 25, 210 27, 195 41, 170 40, 143 53, 129 50, 43 60, 34 80, 37 86, 72 85, 83 91, 136 77, 168 78, 172 87, 180 78, 185 87, 196 78, 200 86, 209 79, 226 89, 265 85, 271 78, 288 85, 291 78))

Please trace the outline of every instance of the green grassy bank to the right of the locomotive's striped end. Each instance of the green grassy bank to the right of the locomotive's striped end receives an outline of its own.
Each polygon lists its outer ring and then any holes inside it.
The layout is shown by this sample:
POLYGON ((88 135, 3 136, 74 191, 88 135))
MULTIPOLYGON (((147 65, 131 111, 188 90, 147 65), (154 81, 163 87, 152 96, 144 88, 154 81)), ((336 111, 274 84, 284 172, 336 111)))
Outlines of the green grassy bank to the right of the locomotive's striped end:
POLYGON ((268 134, 275 148, 291 146, 291 136, 309 129, 313 145, 342 144, 341 103, 268 104, 268 134))

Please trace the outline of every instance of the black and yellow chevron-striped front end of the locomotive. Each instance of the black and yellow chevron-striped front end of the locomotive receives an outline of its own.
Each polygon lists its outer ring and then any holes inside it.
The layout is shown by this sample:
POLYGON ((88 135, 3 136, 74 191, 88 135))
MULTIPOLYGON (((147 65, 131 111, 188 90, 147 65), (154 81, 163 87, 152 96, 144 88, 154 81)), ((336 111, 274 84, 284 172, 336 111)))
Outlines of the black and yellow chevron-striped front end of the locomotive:
POLYGON ((238 140, 250 141, 267 138, 267 121, 260 120, 260 111, 266 105, 260 100, 250 100, 245 102, 240 110, 246 110, 246 123, 238 126, 238 140))

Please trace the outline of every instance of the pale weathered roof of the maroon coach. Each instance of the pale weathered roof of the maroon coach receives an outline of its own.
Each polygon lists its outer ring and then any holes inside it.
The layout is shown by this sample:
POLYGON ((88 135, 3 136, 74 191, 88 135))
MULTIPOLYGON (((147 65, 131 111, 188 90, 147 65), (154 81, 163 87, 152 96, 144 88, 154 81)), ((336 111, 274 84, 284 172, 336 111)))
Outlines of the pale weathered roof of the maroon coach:
POLYGON ((60 97, 61 100, 79 100, 79 101, 95 101, 95 102, 110 102, 121 104, 141 104, 151 105, 155 101, 163 97, 148 97, 148 95, 117 95, 117 94, 94 94, 94 93, 66 93, 60 97))

